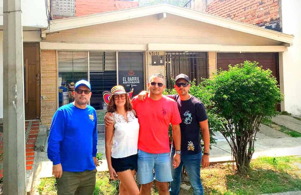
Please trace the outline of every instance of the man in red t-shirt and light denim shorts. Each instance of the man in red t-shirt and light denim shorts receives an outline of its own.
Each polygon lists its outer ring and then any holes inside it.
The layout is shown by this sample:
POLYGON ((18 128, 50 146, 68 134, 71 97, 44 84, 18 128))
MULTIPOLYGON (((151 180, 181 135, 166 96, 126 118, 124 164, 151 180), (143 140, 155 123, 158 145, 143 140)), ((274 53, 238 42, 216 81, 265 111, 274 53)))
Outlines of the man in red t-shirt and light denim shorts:
MULTIPOLYGON (((137 180, 141 184, 140 194, 151 194, 152 181, 160 194, 169 194, 168 182, 172 181, 170 167, 169 148, 169 124, 172 124, 172 135, 175 144, 175 155, 173 157, 174 169, 180 164, 181 131, 182 122, 177 103, 162 95, 166 85, 162 74, 153 74, 147 86, 149 95, 145 101, 139 101, 138 96, 132 99, 133 109, 139 120, 138 138, 138 170, 137 180), (155 177, 153 171, 155 169, 155 177)), ((111 125, 106 114, 105 123, 111 125)))

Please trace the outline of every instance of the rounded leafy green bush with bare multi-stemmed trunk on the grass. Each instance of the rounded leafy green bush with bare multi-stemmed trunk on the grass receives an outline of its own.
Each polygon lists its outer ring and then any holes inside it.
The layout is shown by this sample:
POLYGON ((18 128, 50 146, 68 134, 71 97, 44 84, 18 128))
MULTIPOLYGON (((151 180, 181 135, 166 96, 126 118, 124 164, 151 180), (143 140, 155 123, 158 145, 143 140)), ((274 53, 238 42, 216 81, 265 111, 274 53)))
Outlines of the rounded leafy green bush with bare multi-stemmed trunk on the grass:
POLYGON ((263 70, 258 64, 245 61, 229 65, 229 70, 220 70, 203 82, 205 91, 211 95, 210 112, 226 120, 220 131, 231 147, 240 173, 250 168, 261 120, 275 116, 275 105, 282 100, 272 71, 263 70))

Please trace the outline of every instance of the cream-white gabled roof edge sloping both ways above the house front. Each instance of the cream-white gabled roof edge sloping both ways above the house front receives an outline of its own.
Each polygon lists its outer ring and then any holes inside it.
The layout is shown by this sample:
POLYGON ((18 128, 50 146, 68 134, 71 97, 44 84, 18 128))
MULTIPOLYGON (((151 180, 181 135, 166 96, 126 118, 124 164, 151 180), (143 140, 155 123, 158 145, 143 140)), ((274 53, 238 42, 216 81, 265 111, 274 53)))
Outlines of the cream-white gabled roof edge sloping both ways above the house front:
POLYGON ((227 19, 209 13, 204 13, 186 7, 175 6, 167 3, 160 3, 160 4, 134 7, 134 8, 123 9, 123 10, 95 13, 95 14, 85 15, 85 16, 77 16, 72 18, 52 20, 50 22, 50 29, 42 30, 42 37, 43 36, 45 37, 45 34, 51 32, 58 32, 62 30, 75 29, 84 26, 104 24, 108 22, 116 22, 116 21, 138 18, 143 16, 150 16, 154 14, 162 14, 162 17, 165 17, 166 13, 185 17, 188 19, 197 20, 200 22, 213 24, 216 26, 221 26, 224 28, 228 28, 240 32, 249 33, 252 35, 257 35, 264 38, 273 39, 276 41, 281 41, 287 44, 293 44, 293 37, 294 37, 293 35, 288 35, 285 33, 264 29, 255 25, 251 25, 243 22, 237 22, 232 19, 227 19))

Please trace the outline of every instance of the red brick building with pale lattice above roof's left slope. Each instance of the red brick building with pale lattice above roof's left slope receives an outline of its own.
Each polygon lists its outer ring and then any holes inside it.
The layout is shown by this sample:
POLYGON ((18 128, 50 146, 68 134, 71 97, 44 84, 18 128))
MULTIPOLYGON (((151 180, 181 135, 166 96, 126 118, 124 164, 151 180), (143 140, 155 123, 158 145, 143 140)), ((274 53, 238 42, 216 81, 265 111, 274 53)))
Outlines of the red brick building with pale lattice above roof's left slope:
POLYGON ((138 7, 138 0, 50 0, 51 16, 61 19, 138 7))

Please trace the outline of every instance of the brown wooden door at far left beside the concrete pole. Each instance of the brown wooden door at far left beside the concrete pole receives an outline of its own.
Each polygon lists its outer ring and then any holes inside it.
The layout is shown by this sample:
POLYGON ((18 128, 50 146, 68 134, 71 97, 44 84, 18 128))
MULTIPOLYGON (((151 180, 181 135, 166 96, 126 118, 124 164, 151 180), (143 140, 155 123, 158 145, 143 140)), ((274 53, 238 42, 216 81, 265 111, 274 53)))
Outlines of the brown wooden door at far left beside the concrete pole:
POLYGON ((40 46, 23 43, 25 119, 40 118, 40 46))

